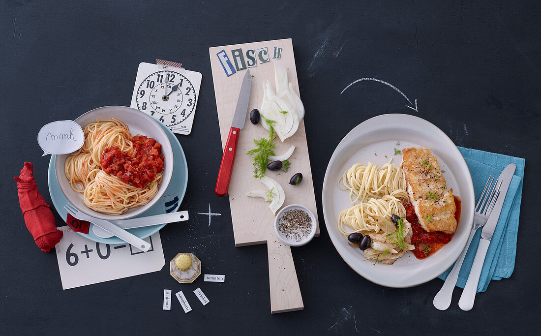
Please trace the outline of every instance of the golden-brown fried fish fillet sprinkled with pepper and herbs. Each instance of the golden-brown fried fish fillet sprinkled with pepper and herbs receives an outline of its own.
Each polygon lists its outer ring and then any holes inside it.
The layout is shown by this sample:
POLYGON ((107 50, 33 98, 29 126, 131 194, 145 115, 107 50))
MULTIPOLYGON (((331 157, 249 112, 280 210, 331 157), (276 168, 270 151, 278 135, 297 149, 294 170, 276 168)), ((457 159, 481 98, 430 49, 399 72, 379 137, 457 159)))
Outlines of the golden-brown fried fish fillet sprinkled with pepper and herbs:
POLYGON ((407 192, 419 224, 427 232, 454 233, 457 207, 451 190, 447 190, 438 159, 426 148, 405 148, 402 154, 407 192))

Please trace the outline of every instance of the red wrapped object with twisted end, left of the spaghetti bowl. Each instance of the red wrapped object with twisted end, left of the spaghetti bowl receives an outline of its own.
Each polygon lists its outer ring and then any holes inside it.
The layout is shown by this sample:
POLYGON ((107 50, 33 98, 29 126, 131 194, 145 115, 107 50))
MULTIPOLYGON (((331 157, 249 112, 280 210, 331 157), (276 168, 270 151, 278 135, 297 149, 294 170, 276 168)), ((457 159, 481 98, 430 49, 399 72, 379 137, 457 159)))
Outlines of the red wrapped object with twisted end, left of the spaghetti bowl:
POLYGON ((14 180, 17 181, 19 204, 28 230, 41 251, 51 252, 51 248, 62 238, 62 231, 56 228, 55 216, 37 190, 32 163, 24 162, 21 175, 14 177, 14 180))

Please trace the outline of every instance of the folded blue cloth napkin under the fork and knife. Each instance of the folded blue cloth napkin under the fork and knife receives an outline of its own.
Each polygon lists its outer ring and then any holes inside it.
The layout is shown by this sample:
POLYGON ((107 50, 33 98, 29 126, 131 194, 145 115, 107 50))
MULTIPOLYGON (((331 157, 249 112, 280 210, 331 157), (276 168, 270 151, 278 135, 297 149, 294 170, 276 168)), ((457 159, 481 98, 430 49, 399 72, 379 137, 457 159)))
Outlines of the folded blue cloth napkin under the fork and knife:
MULTIPOLYGON (((522 180, 524 178, 524 164, 526 160, 520 157, 489 153, 476 149, 463 147, 458 147, 458 149, 462 156, 464 156, 464 160, 470 169, 476 202, 481 192, 483 192, 483 188, 490 175, 498 177, 509 163, 514 163, 517 166, 511 184, 509 185, 509 190, 507 190, 502 213, 500 214, 496 230, 494 230, 494 234, 492 235, 492 240, 486 253, 485 263, 481 270, 477 292, 484 292, 489 286, 490 280, 509 278, 513 273, 514 258, 517 253, 518 218, 520 214, 520 201, 522 200, 522 180)), ((464 288, 466 285, 480 238, 481 230, 477 230, 458 275, 457 286, 461 288, 464 288)), ((445 280, 452 268, 451 266, 451 268, 447 269, 439 278, 445 280)))

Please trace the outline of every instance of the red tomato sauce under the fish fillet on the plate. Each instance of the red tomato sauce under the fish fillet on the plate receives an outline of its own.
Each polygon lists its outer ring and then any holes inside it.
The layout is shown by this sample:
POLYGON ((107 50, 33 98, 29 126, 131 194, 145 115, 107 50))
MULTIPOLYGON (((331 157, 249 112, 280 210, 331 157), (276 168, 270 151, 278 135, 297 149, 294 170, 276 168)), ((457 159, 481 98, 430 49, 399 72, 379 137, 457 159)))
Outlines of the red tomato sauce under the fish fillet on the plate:
MULTIPOLYGON (((461 201, 457 196, 454 196, 454 203, 457 206, 457 211, 454 213, 454 218, 458 223, 460 219, 461 201)), ((453 238, 453 234, 448 234, 441 231, 426 232, 425 229, 423 229, 423 227, 421 227, 419 224, 419 220, 415 214, 415 207, 412 205, 412 203, 409 203, 406 206, 406 219, 408 222, 410 222, 413 230, 411 243, 413 246, 415 246, 415 249, 412 252, 417 259, 424 259, 433 254, 446 243, 450 242, 453 238)))

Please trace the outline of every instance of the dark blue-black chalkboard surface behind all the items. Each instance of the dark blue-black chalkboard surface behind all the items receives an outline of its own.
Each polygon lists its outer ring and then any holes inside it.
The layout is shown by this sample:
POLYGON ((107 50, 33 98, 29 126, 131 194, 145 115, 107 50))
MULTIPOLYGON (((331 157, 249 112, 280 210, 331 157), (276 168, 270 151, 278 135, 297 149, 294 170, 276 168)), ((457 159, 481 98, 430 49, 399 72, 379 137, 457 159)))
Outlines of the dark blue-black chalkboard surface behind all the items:
MULTIPOLYGON (((539 111, 541 6, 538 2, 378 1, 35 1, 0 4, 2 272, 0 329, 83 332, 518 333, 539 326, 539 111), (77 3, 77 4, 75 4, 77 3), (293 39, 321 237, 295 248, 304 311, 271 315, 266 246, 235 248, 227 199, 214 195, 221 146, 208 48, 293 39), (164 254, 192 251, 224 284, 180 285, 161 272, 62 291, 54 254, 32 241, 18 208, 16 176, 24 161, 47 187, 49 156, 36 135, 45 123, 106 105, 129 106, 137 65, 155 58, 203 74, 193 132, 178 136, 189 182, 181 209, 190 221, 161 230, 164 254), (392 83, 417 98, 406 108, 392 83), (342 261, 321 213, 327 162, 358 123, 384 113, 411 113, 440 127, 459 146, 526 158, 516 267, 493 281, 470 312, 437 311, 439 279, 405 289, 374 285, 342 261), (327 119, 331 117, 332 123, 327 119), (325 123, 325 127, 322 124, 325 123), (208 219, 195 212, 206 212, 208 219), (200 286, 210 304, 188 296, 162 311, 164 288, 200 286)), ((55 214, 56 215, 56 214, 55 214)), ((56 215, 57 216, 57 215, 56 215)), ((57 225, 63 222, 57 216, 57 225)), ((192 295, 192 294, 187 294, 192 295)), ((176 299, 174 299, 176 300, 176 299)))

